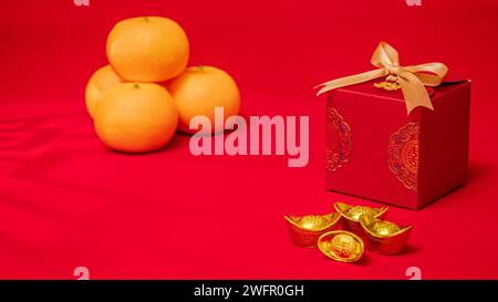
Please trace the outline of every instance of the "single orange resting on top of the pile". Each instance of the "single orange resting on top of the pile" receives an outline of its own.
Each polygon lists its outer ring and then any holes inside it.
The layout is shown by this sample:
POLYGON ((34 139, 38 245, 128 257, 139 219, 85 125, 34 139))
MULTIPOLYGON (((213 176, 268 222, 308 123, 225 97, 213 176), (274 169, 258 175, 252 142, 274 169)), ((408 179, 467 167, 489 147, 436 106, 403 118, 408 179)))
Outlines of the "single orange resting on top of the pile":
POLYGON ((180 74, 188 62, 185 31, 162 17, 132 18, 118 22, 107 38, 107 59, 129 82, 163 82, 180 74))

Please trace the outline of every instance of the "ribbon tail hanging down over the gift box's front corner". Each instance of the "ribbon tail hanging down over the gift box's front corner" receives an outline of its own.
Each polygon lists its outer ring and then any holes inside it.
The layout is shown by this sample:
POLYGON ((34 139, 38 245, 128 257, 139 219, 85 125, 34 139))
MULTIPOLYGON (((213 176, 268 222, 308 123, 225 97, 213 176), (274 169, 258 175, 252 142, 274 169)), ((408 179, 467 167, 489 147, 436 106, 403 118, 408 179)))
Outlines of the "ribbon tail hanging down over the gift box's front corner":
POLYGON ((400 74, 398 80, 408 114, 418 106, 434 110, 424 83, 416 75, 411 72, 404 72, 400 74))

